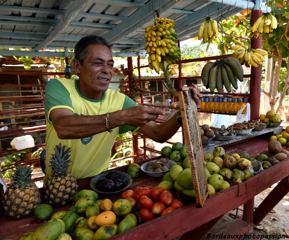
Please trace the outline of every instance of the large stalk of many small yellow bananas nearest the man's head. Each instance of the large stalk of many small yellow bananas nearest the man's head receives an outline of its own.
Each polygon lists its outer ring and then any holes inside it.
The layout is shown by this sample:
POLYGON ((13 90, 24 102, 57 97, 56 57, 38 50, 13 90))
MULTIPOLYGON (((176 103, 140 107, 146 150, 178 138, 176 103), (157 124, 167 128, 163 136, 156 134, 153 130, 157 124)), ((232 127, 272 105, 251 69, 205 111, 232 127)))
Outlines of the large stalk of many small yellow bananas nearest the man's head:
POLYGON ((180 60, 180 48, 177 46, 177 34, 173 27, 175 21, 168 18, 157 17, 154 25, 145 28, 145 50, 149 54, 149 68, 157 73, 162 69, 164 61, 168 64, 177 63, 180 60))

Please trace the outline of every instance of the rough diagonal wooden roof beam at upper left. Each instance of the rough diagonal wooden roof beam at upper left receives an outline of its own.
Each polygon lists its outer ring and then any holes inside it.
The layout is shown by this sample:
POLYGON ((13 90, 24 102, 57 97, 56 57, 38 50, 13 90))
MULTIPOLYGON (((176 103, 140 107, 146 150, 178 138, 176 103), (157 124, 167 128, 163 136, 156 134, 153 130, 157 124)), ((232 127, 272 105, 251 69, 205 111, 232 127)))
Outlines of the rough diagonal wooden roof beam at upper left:
POLYGON ((64 15, 59 19, 59 22, 55 24, 52 30, 49 32, 48 36, 42 41, 38 46, 34 47, 32 50, 39 51, 45 48, 49 43, 53 42, 63 30, 65 30, 71 22, 77 17, 77 15, 85 8, 86 4, 91 0, 79 0, 74 1, 71 6, 67 9, 64 15))

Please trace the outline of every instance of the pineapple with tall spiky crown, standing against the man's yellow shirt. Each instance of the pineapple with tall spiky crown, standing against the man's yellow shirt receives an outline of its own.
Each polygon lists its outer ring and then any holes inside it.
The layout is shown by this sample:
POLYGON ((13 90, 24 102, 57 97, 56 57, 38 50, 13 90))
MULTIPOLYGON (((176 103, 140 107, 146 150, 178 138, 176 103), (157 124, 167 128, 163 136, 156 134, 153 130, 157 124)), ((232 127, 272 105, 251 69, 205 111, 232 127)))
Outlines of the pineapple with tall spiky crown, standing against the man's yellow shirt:
POLYGON ((77 193, 77 182, 71 173, 68 173, 69 153, 71 148, 65 150, 66 146, 61 147, 61 143, 55 146, 54 154, 51 154, 49 167, 51 175, 45 184, 45 197, 50 204, 63 206, 71 201, 74 194, 77 193))

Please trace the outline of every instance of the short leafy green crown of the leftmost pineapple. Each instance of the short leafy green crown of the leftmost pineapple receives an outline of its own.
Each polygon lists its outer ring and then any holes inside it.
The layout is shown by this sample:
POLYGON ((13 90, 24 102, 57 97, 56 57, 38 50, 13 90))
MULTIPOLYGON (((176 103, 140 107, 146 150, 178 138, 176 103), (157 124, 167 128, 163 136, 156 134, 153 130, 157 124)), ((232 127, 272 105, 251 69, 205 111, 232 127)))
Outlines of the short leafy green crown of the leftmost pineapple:
POLYGON ((25 187, 32 181, 32 169, 28 166, 18 166, 13 170, 12 181, 19 187, 25 187))

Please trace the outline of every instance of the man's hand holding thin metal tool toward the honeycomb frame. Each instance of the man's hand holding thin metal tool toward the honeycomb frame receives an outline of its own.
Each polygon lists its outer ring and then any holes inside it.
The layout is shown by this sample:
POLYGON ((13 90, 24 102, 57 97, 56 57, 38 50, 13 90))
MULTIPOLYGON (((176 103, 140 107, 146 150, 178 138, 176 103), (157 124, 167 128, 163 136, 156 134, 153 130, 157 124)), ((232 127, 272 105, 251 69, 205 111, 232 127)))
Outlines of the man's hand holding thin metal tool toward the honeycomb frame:
POLYGON ((161 109, 144 106, 136 106, 122 111, 126 124, 133 127, 143 127, 146 123, 155 121, 158 118, 158 115, 166 115, 161 109))

